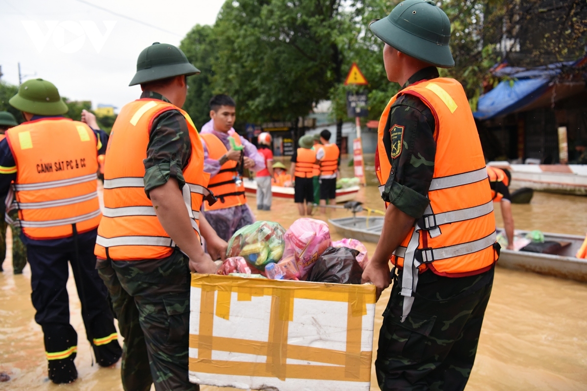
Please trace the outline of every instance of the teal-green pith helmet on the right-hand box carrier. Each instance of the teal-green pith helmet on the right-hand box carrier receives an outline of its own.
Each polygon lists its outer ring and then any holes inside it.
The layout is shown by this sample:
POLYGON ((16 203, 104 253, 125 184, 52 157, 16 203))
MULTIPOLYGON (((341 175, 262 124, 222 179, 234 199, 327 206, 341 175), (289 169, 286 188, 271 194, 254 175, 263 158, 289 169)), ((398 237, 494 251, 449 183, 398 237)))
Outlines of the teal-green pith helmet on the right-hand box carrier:
POLYGON ((383 42, 410 57, 441 68, 454 67, 450 20, 432 0, 406 0, 369 28, 383 42))

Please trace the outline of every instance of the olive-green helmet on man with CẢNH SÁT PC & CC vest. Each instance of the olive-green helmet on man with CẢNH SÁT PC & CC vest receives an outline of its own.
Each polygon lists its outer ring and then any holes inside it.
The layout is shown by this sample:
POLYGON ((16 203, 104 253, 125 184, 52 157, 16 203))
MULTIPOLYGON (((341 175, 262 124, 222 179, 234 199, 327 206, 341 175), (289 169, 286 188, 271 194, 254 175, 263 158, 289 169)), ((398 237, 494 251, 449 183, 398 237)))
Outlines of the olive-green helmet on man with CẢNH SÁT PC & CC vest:
POLYGON ((68 112, 57 87, 43 79, 27 80, 8 103, 15 109, 37 115, 60 115, 68 112))

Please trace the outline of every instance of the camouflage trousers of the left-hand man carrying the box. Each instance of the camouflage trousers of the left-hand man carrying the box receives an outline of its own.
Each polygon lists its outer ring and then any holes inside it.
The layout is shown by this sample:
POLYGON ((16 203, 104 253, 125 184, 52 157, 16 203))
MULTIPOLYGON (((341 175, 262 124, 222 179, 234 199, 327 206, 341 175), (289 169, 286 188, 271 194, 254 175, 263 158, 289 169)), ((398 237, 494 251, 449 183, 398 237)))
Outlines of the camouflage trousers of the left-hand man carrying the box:
POLYGON ((126 391, 199 390, 188 380, 190 270, 181 252, 164 259, 97 260, 124 338, 126 391))

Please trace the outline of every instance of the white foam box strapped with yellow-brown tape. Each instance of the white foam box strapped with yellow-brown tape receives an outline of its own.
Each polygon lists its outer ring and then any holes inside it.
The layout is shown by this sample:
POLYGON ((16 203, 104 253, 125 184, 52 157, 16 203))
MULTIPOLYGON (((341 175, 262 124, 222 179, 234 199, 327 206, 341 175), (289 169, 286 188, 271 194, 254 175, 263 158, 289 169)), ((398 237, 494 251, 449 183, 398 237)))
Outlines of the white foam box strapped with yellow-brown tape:
POLYGON ((192 275, 190 381, 368 391, 375 286, 192 275))

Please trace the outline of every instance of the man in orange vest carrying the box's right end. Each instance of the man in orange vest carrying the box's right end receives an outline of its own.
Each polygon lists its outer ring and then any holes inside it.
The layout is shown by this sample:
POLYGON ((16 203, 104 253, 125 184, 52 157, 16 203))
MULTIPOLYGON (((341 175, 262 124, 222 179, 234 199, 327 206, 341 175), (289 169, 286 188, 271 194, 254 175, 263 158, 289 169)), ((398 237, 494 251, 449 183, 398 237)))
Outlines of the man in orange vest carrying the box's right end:
POLYGON ((370 25, 387 78, 402 86, 379 121, 387 210, 363 272, 379 293, 394 279, 375 362, 382 390, 464 389, 499 255, 473 114, 461 84, 438 77, 454 60, 434 4, 406 0, 370 25))

